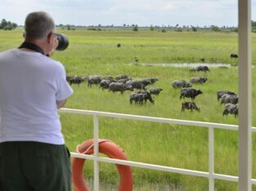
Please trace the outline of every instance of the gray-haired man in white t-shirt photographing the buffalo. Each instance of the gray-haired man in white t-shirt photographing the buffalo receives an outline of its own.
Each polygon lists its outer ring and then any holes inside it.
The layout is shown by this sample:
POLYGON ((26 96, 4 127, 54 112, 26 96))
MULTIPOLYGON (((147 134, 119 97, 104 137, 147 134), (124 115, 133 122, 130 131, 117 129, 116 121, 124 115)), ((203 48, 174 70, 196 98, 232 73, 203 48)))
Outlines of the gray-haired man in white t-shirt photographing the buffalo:
POLYGON ((57 109, 73 93, 52 60, 55 24, 46 12, 25 20, 25 42, 0 53, 0 190, 70 191, 70 153, 57 109))

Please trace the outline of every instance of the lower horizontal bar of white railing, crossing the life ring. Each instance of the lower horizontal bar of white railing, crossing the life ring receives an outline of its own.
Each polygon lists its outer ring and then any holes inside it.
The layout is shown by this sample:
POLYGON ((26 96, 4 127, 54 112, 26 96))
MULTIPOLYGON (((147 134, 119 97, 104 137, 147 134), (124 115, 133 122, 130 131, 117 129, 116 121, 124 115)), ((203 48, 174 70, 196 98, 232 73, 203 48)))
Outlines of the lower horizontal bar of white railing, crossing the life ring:
MULTIPOLYGON (((88 160, 97 160, 99 162, 115 163, 119 165, 131 166, 131 167, 142 167, 142 168, 147 168, 147 169, 157 170, 157 171, 168 171, 168 172, 178 173, 182 175, 195 175, 195 176, 200 176, 204 178, 209 178, 209 172, 206 172, 206 171, 187 170, 183 168, 166 167, 161 165, 148 164, 144 162, 131 162, 126 160, 114 159, 114 158, 102 158, 102 157, 96 158, 93 155, 80 154, 80 153, 71 153, 71 157, 84 158, 88 160)), ((238 182, 238 177, 234 175, 221 175, 221 174, 213 173, 213 178, 215 180, 228 180, 228 181, 238 182)), ((252 184, 256 184, 255 179, 252 179, 252 184)))

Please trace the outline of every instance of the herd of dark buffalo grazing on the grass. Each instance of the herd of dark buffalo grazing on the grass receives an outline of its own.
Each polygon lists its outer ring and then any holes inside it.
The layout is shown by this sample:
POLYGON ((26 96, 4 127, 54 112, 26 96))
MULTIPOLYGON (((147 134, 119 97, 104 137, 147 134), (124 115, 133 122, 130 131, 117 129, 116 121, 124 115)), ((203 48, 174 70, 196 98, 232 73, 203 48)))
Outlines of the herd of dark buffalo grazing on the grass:
MULTIPOLYGON (((195 69, 190 69, 190 72, 209 72, 208 66, 198 66, 195 69)), ((161 91, 163 91, 160 87, 150 87, 147 90, 148 85, 153 85, 158 81, 157 78, 145 78, 142 80, 132 80, 132 78, 128 77, 128 75, 118 75, 114 77, 105 76, 101 77, 98 75, 87 76, 87 77, 77 77, 67 75, 66 80, 72 84, 80 84, 82 82, 88 82, 88 87, 92 87, 92 85, 97 84, 101 88, 101 90, 108 89, 109 91, 116 92, 119 91, 121 94, 124 91, 132 91, 129 97, 129 103, 135 104, 146 104, 147 100, 150 103, 154 104, 155 100, 152 95, 158 96, 161 91), (136 91, 134 91, 136 90, 136 91)), ((181 89, 180 91, 180 99, 190 98, 191 101, 183 101, 181 111, 185 111, 185 109, 189 109, 193 111, 194 109, 200 112, 200 108, 195 104, 194 100, 196 96, 203 94, 201 90, 197 90, 193 88, 193 84, 204 84, 207 82, 207 78, 191 78, 190 82, 186 82, 185 80, 174 80, 172 82, 172 87, 177 89, 181 89)), ((234 114, 235 118, 238 115, 238 96, 233 91, 217 91, 217 100, 220 104, 225 104, 225 108, 223 110, 222 115, 234 114)))

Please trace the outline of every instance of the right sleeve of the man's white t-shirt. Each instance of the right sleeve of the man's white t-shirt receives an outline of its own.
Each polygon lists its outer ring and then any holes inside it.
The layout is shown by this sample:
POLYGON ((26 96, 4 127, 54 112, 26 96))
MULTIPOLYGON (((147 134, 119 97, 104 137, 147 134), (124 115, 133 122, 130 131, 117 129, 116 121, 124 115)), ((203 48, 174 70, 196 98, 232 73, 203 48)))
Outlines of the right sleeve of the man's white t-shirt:
POLYGON ((73 94, 70 84, 66 81, 65 69, 62 64, 56 73, 56 100, 65 100, 73 94))

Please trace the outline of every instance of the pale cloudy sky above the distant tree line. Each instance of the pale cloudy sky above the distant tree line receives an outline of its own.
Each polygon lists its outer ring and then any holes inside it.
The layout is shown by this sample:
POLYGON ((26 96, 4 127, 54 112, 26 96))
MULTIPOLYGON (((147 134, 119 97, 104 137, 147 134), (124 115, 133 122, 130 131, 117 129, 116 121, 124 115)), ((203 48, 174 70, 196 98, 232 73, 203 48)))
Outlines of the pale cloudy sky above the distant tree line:
MULTIPOLYGON (((252 20, 256 20, 256 0, 252 20)), ((238 0, 1 0, 0 20, 24 24, 31 11, 47 11, 56 24, 237 26, 238 0)))

